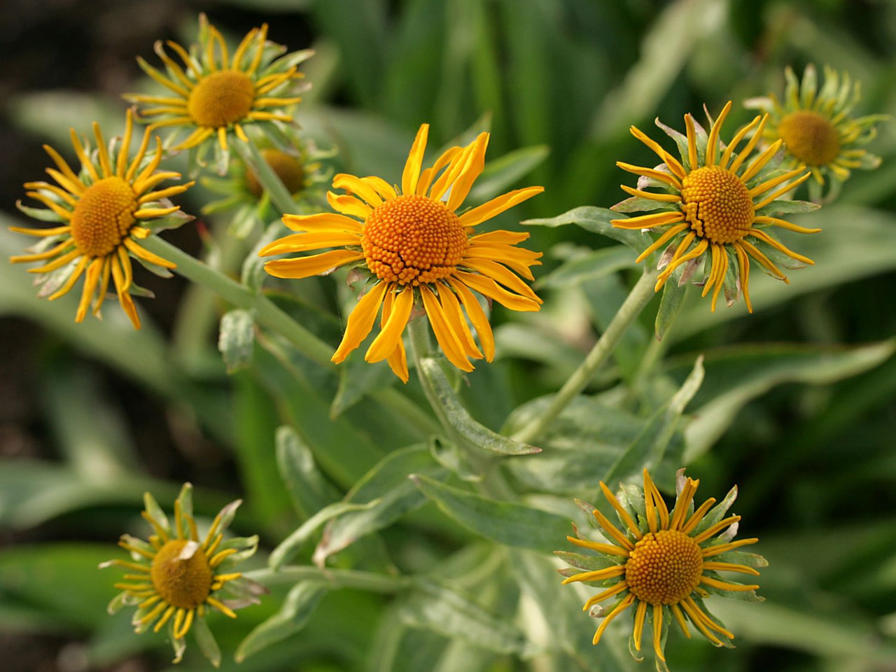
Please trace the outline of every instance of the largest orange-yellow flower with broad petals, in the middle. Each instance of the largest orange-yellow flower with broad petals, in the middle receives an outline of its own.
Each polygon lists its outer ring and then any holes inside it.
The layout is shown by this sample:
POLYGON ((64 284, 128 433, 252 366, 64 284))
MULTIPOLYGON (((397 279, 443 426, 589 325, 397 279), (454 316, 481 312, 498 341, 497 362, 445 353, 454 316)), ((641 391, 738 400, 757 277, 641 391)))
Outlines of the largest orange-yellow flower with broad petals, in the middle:
POLYGON ((540 194, 543 187, 517 189, 458 214, 485 165, 488 134, 479 134, 466 147, 452 147, 431 168, 422 169, 428 130, 428 125, 420 126, 411 146, 401 191, 380 177, 337 175, 333 187, 347 194, 330 192, 327 200, 338 214, 285 215, 283 222, 302 233, 275 240, 260 253, 341 248, 265 263, 264 268, 278 278, 307 278, 345 264, 370 271, 372 285, 349 315, 332 360, 338 364, 358 348, 382 306, 380 333, 365 359, 386 359, 404 382, 408 364, 401 335, 415 304, 426 312, 445 357, 463 371, 472 371, 470 358, 483 358, 484 353, 491 361, 495 354, 491 327, 471 289, 512 310, 537 311, 541 305, 517 276, 532 280, 529 267, 540 263, 541 253, 516 246, 529 234, 470 234, 473 227, 540 194), (464 310, 476 328, 481 351, 464 310))

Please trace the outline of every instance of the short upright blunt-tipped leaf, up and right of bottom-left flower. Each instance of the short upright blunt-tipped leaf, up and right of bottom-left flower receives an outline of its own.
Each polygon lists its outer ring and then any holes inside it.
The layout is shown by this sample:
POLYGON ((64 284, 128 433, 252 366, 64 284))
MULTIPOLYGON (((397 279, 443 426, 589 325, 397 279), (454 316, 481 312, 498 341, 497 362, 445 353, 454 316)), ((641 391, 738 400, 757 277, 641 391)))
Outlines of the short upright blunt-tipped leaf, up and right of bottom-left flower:
POLYGON ((303 519, 340 498, 339 491, 323 477, 314 453, 289 425, 278 428, 277 467, 296 513, 303 519))

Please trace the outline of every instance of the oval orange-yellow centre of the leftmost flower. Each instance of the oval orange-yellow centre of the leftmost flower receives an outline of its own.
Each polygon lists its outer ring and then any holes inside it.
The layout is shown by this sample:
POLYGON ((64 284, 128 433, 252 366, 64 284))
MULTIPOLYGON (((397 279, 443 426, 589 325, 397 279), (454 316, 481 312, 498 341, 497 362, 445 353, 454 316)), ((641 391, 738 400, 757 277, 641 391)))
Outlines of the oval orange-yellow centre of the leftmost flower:
POLYGON ((134 225, 137 197, 121 177, 106 177, 87 187, 74 206, 72 237, 89 257, 114 252, 134 225))

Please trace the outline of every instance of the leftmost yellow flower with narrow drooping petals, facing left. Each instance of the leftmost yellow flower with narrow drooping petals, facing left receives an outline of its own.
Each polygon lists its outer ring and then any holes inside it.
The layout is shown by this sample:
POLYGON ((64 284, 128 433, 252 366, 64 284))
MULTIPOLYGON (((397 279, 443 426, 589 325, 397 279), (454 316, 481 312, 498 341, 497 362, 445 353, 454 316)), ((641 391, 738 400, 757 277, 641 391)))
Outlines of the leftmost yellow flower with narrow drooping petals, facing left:
MULTIPOLYGON (((131 256, 149 264, 155 272, 165 275, 174 263, 162 259, 143 249, 138 240, 151 234, 151 227, 161 222, 152 222, 177 212, 180 206, 163 201, 168 196, 183 194, 190 186, 169 186, 155 190, 161 182, 179 178, 180 174, 170 170, 157 170, 162 159, 161 142, 156 137, 156 150, 152 159, 143 166, 143 159, 151 142, 150 129, 143 133, 140 149, 133 160, 128 162, 134 119, 127 111, 125 138, 115 154, 103 140, 99 125, 93 124, 97 150, 91 156, 90 148, 82 144, 74 129, 71 129, 72 144, 81 162, 80 174, 75 174, 65 159, 52 147, 44 149, 56 163, 56 168, 47 168, 57 185, 47 182, 27 182, 25 188, 31 198, 43 203, 49 210, 32 209, 17 203, 26 214, 43 221, 56 221, 61 226, 54 228, 11 227, 17 232, 43 238, 32 254, 22 254, 10 258, 12 263, 46 262, 38 268, 29 269, 39 273, 39 283, 44 287, 39 296, 49 296, 49 300, 63 296, 73 288, 74 283, 84 276, 81 302, 75 314, 75 322, 81 322, 93 301, 93 314, 99 316, 110 278, 115 281, 118 301, 135 329, 140 328, 140 317, 134 306, 132 293, 148 294, 137 288, 132 278, 131 256), (146 224, 147 226, 139 226, 146 224)), ((181 215, 186 219, 185 215, 181 215)))

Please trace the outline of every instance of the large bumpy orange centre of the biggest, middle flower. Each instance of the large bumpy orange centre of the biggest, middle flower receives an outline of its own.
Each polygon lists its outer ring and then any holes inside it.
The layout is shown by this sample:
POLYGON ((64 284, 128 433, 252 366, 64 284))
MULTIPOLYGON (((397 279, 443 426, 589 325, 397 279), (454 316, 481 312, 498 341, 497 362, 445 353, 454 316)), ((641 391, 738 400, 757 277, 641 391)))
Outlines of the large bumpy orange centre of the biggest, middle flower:
POLYGON ((417 286, 452 275, 470 243, 443 202, 407 195, 367 216, 361 246, 367 268, 378 278, 417 286))

